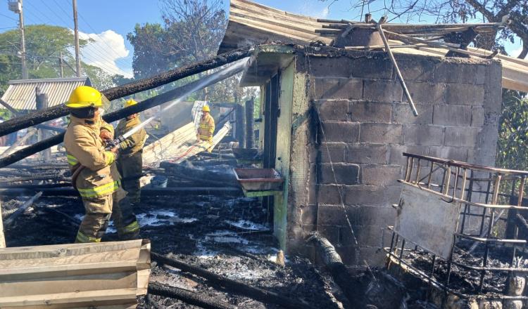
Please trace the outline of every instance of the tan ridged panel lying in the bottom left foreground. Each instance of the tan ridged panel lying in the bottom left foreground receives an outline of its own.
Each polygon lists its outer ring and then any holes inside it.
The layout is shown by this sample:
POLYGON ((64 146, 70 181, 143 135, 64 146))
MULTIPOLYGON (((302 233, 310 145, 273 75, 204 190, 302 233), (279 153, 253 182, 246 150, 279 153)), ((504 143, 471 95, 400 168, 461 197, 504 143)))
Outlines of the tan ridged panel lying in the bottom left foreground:
POLYGON ((142 239, 0 249, 0 308, 133 308, 149 277, 142 239))

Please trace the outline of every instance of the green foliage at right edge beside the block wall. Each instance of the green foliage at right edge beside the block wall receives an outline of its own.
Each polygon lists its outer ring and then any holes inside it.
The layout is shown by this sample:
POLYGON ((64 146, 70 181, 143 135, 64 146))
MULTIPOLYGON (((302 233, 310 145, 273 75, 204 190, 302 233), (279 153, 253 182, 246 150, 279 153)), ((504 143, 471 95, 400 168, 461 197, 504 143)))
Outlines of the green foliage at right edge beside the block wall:
POLYGON ((528 98, 503 91, 503 111, 498 128, 496 166, 528 170, 528 98))

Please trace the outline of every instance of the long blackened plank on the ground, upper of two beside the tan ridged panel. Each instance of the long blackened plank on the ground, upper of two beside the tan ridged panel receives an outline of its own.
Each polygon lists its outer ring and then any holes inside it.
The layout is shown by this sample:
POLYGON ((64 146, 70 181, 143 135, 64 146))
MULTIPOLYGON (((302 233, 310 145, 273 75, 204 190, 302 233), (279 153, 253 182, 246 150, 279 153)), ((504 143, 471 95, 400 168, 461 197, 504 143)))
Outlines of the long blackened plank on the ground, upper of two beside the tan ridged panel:
POLYGON ((168 258, 160 254, 156 254, 154 252, 151 253, 151 258, 158 263, 169 265, 178 268, 184 272, 189 272, 193 275, 206 278, 208 282, 215 285, 216 287, 224 288, 225 290, 230 291, 231 293, 247 296, 263 303, 273 303, 275 305, 280 305, 284 308, 313 308, 310 304, 301 300, 282 296, 273 291, 260 289, 258 287, 252 287, 243 282, 216 275, 215 273, 210 272, 208 270, 204 270, 203 268, 199 268, 194 265, 189 265, 175 258, 168 258))

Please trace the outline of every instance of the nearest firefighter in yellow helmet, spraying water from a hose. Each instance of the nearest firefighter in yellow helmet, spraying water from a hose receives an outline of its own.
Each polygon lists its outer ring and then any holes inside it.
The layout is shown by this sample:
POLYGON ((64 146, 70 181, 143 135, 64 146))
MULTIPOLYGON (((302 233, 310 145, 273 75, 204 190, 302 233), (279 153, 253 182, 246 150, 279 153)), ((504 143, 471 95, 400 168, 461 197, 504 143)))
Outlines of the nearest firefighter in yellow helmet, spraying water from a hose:
POLYGON ((80 86, 65 103, 70 110, 70 124, 64 147, 73 186, 79 191, 86 211, 75 242, 101 242, 111 216, 120 239, 139 237, 139 224, 114 164, 118 148, 105 150, 104 140, 111 140, 114 132, 101 119, 99 109, 103 102, 108 100, 99 91, 80 86))

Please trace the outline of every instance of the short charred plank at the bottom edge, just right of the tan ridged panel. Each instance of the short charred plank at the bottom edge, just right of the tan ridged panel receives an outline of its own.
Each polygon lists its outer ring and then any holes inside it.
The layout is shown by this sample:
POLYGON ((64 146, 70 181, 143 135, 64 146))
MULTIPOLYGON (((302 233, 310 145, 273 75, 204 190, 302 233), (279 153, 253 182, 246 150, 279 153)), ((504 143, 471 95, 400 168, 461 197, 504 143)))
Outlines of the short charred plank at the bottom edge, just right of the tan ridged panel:
POLYGON ((169 287, 166 284, 157 282, 149 283, 147 292, 152 295, 158 295, 168 298, 176 298, 190 305, 197 305, 206 309, 230 309, 233 305, 218 301, 215 298, 208 297, 204 294, 198 294, 178 287, 169 287))

